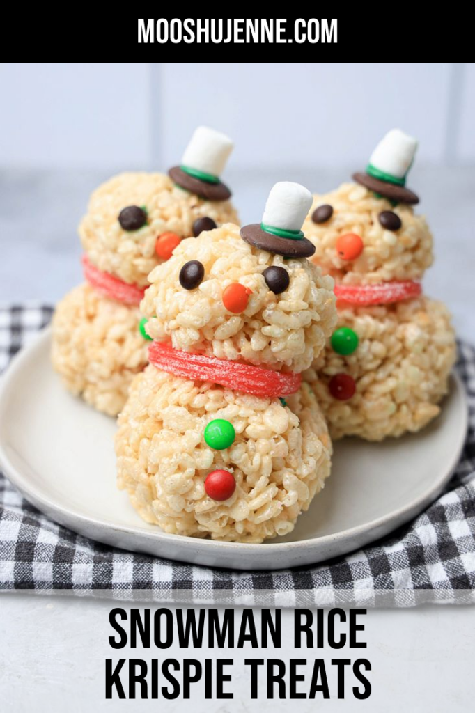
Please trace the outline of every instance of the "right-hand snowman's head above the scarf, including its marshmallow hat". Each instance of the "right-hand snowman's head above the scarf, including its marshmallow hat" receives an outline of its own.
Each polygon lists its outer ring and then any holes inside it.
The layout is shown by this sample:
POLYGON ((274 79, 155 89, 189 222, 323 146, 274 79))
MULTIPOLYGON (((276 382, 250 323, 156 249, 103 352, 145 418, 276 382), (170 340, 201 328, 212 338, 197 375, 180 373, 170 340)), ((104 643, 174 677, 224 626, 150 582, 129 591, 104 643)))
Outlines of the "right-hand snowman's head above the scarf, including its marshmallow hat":
POLYGON ((417 140, 399 129, 384 136, 357 183, 315 195, 304 230, 313 260, 337 282, 419 280, 432 262, 432 236, 405 183, 417 140))

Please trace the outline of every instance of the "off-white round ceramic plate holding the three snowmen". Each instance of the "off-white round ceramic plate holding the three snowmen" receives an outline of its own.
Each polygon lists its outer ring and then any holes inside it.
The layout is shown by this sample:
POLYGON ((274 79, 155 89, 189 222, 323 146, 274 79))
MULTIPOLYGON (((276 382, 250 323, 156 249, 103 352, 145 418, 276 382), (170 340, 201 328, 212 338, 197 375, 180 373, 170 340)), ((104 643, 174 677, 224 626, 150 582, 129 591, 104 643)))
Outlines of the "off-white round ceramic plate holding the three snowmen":
POLYGON ((453 376, 441 416, 421 433, 383 443, 336 443, 325 491, 285 538, 240 545, 166 535, 144 523, 116 489, 115 421, 63 390, 51 369, 50 344, 46 330, 14 359, 2 381, 1 467, 53 520, 126 550, 243 570, 321 562, 422 511, 448 481, 464 443, 466 401, 453 376))

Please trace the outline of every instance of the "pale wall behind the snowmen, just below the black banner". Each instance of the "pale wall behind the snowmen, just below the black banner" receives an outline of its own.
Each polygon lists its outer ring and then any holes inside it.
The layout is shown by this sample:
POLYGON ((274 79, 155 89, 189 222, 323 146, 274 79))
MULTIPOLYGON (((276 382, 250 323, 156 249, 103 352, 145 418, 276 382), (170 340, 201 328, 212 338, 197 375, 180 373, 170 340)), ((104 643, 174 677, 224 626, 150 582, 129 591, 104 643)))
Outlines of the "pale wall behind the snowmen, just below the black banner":
POLYGON ((393 126, 475 161, 475 63, 4 64, 0 97, 3 165, 160 169, 201 123, 245 170, 359 165, 393 126))

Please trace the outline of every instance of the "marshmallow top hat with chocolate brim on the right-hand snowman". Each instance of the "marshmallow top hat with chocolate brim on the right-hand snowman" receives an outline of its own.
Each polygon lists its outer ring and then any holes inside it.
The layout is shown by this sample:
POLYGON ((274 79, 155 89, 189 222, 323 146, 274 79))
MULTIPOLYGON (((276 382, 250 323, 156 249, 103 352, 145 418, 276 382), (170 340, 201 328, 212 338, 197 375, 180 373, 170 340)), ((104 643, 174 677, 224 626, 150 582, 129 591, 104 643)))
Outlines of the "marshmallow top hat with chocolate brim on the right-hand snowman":
POLYGON ((401 129, 392 129, 374 149, 365 173, 353 178, 379 196, 393 202, 414 204, 419 198, 406 188, 406 175, 417 151, 417 139, 401 129))

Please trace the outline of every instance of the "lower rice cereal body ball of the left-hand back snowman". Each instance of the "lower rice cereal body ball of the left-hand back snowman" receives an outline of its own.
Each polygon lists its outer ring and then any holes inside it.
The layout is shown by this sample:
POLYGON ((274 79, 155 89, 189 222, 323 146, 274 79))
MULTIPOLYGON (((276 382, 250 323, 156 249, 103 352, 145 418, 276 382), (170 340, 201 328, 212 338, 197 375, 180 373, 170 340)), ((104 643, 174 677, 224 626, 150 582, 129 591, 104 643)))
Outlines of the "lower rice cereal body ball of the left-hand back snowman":
POLYGON ((56 307, 53 367, 64 386, 88 404, 116 416, 133 376, 148 363, 138 331, 138 307, 127 307, 81 284, 56 307))

